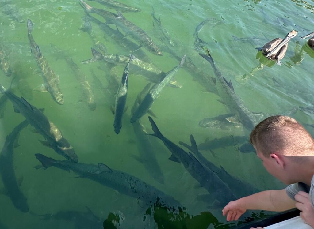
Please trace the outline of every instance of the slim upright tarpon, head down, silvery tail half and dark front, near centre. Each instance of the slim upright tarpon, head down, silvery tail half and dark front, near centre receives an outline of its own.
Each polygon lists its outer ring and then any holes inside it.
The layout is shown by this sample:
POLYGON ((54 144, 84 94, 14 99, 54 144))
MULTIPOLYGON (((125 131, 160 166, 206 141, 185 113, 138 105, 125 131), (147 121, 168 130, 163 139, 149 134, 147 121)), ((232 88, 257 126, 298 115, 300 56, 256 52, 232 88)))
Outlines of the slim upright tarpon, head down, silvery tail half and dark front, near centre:
POLYGON ((121 83, 119 85, 118 91, 116 93, 116 105, 114 111, 114 121, 113 127, 115 129, 116 134, 120 133, 122 127, 122 116, 125 109, 125 104, 127 103, 127 86, 129 80, 129 64, 133 59, 133 53, 127 62, 127 65, 124 68, 121 83))

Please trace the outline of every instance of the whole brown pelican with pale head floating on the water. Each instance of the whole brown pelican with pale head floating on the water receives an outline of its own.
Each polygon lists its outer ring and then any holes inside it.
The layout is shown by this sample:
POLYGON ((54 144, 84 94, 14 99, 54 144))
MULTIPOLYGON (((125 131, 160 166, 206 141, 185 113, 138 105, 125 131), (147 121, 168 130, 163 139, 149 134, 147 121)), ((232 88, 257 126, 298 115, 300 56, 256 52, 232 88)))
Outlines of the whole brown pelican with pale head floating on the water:
POLYGON ((275 38, 272 41, 266 43, 262 48, 257 48, 258 51, 262 51, 263 55, 271 61, 277 61, 277 64, 281 65, 280 60, 284 58, 288 48, 288 41, 291 38, 294 38, 297 34, 297 31, 290 31, 285 38, 275 38))

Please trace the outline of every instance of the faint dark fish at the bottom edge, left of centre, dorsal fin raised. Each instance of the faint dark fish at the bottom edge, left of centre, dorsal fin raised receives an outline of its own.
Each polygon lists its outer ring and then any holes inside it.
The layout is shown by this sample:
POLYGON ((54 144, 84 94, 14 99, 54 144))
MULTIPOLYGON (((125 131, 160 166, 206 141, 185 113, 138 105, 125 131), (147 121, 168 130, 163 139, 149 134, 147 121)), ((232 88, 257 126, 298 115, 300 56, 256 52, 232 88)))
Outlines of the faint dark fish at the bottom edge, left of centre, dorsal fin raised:
POLYGON ((75 224, 76 229, 100 229, 102 228, 102 220, 96 216, 89 207, 87 211, 81 212, 76 210, 58 211, 57 213, 41 215, 43 220, 64 220, 75 224))

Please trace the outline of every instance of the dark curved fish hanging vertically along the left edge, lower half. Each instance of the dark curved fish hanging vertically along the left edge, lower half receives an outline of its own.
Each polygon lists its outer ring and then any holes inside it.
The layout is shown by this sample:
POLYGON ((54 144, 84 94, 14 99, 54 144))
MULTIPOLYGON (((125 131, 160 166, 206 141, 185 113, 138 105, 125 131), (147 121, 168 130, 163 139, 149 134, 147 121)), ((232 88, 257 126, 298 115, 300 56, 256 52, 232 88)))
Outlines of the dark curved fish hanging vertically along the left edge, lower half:
POLYGON ((16 209, 22 212, 28 212, 30 209, 27 204, 26 197, 19 189, 19 184, 14 173, 13 148, 17 146, 19 133, 29 124, 24 120, 17 125, 12 132, 6 137, 4 146, 0 154, 0 173, 5 188, 5 194, 11 199, 16 209))

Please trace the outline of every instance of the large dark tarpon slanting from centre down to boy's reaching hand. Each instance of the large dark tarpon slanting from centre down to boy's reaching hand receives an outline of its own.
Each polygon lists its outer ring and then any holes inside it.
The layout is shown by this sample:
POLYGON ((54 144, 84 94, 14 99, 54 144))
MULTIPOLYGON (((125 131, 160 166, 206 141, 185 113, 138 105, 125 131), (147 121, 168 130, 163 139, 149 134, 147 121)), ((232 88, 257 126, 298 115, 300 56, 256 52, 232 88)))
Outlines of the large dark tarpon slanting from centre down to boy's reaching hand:
POLYGON ((225 182, 223 182, 216 173, 203 166, 192 153, 185 152, 181 147, 163 136, 151 117, 148 117, 152 125, 155 136, 159 138, 170 150, 169 159, 181 163, 186 170, 195 178, 198 183, 210 193, 210 199, 213 201, 212 207, 222 207, 230 200, 236 200, 235 195, 225 182))

